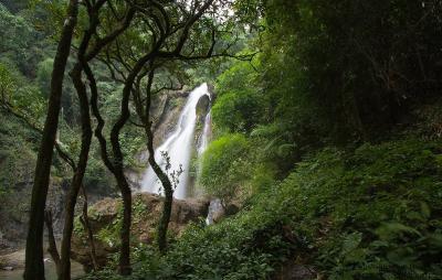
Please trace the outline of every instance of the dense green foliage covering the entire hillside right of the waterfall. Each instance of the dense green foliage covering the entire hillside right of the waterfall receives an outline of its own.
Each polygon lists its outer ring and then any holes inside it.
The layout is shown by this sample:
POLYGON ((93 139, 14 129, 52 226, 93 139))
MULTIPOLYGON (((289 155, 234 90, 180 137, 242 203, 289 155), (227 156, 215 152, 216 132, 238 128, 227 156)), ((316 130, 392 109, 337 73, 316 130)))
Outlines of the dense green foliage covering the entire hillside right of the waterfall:
MULTIPOLYGON (((240 1, 240 14, 256 4, 240 1)), ((422 123, 391 131, 438 98, 441 42, 428 36, 441 34, 440 3, 263 7, 264 31, 245 44, 262 52, 217 78, 201 174, 209 193, 249 200, 161 261, 144 256, 141 276, 265 279, 295 259, 328 279, 439 279, 440 141, 422 140, 422 123), (259 148, 244 157, 242 142, 259 148)), ((424 123, 439 139, 440 118, 424 123)))

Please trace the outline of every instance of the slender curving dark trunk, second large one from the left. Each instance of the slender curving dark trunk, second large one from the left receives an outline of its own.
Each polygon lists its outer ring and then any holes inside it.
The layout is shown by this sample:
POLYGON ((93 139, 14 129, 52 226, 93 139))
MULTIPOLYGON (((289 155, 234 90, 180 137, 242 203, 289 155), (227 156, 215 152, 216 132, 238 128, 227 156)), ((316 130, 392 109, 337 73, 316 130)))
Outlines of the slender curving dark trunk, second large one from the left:
POLYGON ((65 208, 63 240, 62 240, 62 259, 61 259, 61 274, 60 280, 71 279, 71 238, 74 229, 74 215, 75 204, 78 196, 80 189, 83 184, 84 173, 87 166, 92 141, 91 115, 90 104, 87 99, 86 86, 82 80, 82 66, 80 63, 75 65, 71 72, 72 80, 74 83, 76 93, 80 100, 81 121, 82 121, 82 148, 78 157, 78 164, 74 177, 71 183, 71 189, 67 194, 67 202, 65 208))

